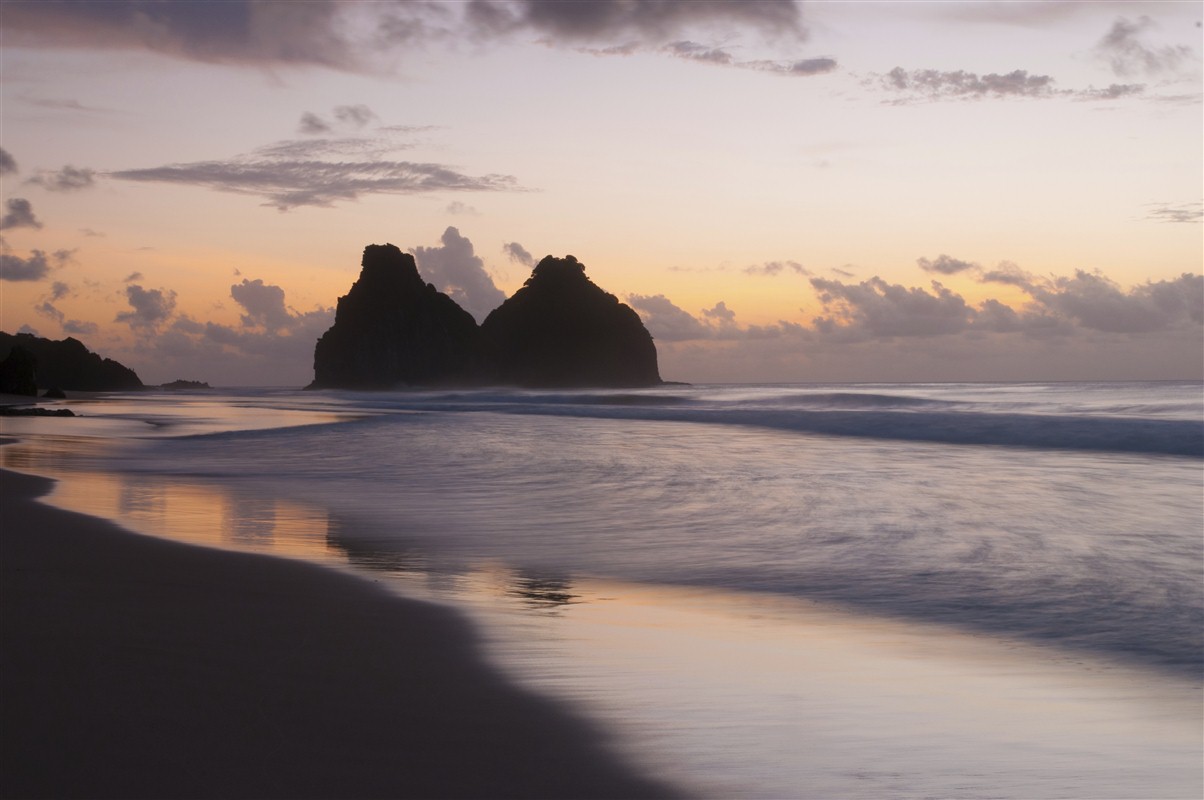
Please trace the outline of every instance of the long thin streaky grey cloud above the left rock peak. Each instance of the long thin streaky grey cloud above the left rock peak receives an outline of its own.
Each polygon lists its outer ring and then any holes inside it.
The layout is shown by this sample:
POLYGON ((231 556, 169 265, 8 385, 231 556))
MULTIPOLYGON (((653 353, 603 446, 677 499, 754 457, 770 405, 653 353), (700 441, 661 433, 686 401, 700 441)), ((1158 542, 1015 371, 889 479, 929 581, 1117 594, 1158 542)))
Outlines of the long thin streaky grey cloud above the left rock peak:
POLYGON ((111 172, 110 177, 255 195, 264 198, 265 205, 281 211, 299 206, 332 206, 336 201, 358 200, 366 194, 519 189, 518 180, 510 175, 471 176, 442 164, 293 160, 264 155, 120 170, 111 172))

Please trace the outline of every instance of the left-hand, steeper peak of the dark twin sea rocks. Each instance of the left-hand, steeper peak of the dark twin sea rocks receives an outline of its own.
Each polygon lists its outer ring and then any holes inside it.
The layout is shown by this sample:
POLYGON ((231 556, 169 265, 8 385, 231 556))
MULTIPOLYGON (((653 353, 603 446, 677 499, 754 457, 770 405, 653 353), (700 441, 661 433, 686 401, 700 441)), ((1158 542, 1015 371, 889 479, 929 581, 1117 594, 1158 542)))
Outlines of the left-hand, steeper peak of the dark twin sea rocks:
POLYGON ((471 380, 477 322, 424 283, 414 257, 368 245, 359 280, 318 340, 311 388, 385 388, 471 380))

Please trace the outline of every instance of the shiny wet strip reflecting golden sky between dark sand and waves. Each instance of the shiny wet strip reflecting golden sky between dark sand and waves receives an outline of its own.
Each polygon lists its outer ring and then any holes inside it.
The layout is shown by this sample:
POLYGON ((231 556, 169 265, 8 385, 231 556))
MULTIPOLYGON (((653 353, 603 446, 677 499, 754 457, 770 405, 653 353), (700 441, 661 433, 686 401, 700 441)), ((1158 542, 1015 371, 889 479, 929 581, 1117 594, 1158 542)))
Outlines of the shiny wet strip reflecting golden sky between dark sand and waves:
POLYGON ((1084 655, 778 596, 432 570, 295 500, 71 469, 43 439, 0 463, 49 501, 195 545, 356 569, 452 602, 514 678, 589 708, 627 755, 722 796, 1197 796, 1200 687, 1084 655), (863 786, 858 795, 850 787, 863 786))

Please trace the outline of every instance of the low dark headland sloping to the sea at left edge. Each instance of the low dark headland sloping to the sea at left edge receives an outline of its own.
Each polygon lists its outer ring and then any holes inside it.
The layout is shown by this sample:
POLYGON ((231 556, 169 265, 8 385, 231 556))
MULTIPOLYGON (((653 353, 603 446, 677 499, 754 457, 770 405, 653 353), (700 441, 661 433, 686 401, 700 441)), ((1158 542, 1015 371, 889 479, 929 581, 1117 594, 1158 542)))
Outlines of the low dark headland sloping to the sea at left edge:
POLYGON ((77 339, 52 341, 33 334, 0 331, 0 359, 7 359, 17 348, 34 359, 36 387, 73 392, 124 392, 141 389, 142 381, 128 366, 101 358, 77 339))

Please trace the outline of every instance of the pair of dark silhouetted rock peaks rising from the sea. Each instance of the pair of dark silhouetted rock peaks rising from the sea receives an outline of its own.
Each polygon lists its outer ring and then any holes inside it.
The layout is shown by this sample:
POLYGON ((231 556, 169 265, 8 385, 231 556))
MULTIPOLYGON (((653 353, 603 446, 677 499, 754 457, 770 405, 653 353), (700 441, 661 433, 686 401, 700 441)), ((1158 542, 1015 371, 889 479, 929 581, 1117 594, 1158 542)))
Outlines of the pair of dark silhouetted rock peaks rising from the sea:
POLYGON ((572 255, 539 261, 478 327, 394 245, 364 248, 360 277, 314 348, 313 372, 312 389, 661 383, 639 314, 572 255))

